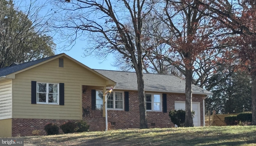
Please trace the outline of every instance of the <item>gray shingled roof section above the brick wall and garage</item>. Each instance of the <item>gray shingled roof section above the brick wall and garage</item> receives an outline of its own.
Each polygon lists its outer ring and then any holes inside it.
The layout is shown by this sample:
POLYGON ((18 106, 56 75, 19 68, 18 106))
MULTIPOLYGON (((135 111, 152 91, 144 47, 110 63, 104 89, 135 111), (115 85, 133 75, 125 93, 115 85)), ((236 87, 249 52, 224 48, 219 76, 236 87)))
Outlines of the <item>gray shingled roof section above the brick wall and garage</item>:
MULTIPOLYGON (((137 90, 137 77, 135 72, 99 70, 94 69, 103 76, 117 82, 116 89, 137 90)), ((145 91, 185 93, 185 80, 174 75, 144 73, 145 91)), ((192 85, 193 94, 210 95, 212 92, 192 85)))

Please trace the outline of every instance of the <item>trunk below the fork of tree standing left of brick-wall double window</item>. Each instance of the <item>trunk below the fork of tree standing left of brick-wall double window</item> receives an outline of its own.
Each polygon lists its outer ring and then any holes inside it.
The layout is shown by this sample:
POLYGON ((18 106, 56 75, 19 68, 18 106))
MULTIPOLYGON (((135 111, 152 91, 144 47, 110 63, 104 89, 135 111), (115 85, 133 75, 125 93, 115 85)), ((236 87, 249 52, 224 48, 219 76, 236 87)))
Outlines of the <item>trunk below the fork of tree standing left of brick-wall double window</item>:
POLYGON ((136 71, 137 84, 138 84, 138 99, 139 99, 139 110, 140 110, 140 128, 147 128, 147 113, 146 113, 146 102, 145 102, 145 90, 144 90, 144 80, 142 66, 138 66, 136 71))

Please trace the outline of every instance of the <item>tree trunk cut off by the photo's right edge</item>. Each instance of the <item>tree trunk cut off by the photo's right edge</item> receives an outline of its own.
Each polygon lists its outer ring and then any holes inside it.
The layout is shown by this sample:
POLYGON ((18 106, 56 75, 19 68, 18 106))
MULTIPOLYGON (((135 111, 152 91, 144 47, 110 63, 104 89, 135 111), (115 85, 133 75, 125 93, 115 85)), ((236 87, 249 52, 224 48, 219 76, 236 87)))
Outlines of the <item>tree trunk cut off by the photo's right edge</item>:
POLYGON ((256 71, 251 73, 252 76, 252 125, 256 125, 256 71))

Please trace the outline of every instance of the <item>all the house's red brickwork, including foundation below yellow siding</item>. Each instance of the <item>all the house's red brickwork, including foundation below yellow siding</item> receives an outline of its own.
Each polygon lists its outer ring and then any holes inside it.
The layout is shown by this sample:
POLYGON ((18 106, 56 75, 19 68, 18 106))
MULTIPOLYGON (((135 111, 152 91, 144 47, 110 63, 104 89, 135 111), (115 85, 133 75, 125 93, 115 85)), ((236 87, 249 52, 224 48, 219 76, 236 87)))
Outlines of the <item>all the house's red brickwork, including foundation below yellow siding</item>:
MULTIPOLYGON (((200 102, 200 118, 201 126, 203 125, 203 103, 204 95, 193 95, 193 102, 200 102)), ((168 112, 174 109, 175 101, 185 101, 185 94, 173 94, 167 93, 167 113, 163 112, 147 112, 147 122, 149 128, 166 128, 174 127, 171 122, 168 112)), ((124 110, 108 110, 114 114, 113 122, 115 123, 115 129, 126 128, 139 128, 140 127, 140 113, 138 104, 138 92, 129 91, 129 112, 124 110)), ((91 90, 86 90, 85 94, 82 94, 82 105, 84 107, 91 105, 91 90)), ((124 104, 125 106, 125 104, 124 104)), ((163 109, 162 109, 163 110, 163 109)), ((90 131, 102 131, 105 130, 105 118, 104 117, 83 117, 90 125, 90 131)), ((77 122, 79 120, 63 120, 63 119, 25 119, 25 118, 12 118, 12 136, 31 136, 33 130, 41 130, 40 135, 46 135, 44 126, 48 123, 55 123, 59 127, 63 123, 71 121, 77 122)), ((110 125, 109 125, 110 126, 110 125)), ((60 133, 63 133, 60 129, 60 133)))

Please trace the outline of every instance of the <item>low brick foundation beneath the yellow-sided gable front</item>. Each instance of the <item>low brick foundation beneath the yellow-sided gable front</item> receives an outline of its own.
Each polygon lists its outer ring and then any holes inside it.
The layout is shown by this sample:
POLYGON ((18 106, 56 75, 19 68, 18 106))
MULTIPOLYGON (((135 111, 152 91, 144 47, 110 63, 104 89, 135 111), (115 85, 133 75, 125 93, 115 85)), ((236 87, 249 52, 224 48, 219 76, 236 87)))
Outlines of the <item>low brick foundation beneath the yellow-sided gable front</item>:
MULTIPOLYGON (((54 123, 60 127, 60 125, 68 121, 77 122, 80 120, 12 118, 12 136, 32 136, 33 130, 41 130, 39 135, 47 135, 44 130, 46 124, 54 123)), ((59 131, 63 133, 60 128, 59 131)))

